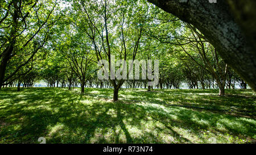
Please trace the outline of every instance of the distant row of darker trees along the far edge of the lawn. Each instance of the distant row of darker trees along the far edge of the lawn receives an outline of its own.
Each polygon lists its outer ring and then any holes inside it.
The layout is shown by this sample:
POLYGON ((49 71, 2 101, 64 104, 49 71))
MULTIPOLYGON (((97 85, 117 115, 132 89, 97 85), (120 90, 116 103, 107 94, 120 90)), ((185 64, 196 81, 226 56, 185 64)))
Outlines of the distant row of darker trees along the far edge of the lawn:
MULTIPOLYGON (((187 86, 189 89, 216 89, 218 88, 217 82, 211 74, 208 74, 198 66, 179 65, 179 68, 161 68, 160 67, 159 83, 155 86, 158 89, 180 89, 180 87, 187 86), (180 70, 181 69, 181 70, 180 70), (168 72, 162 72, 168 70, 168 72), (178 72, 177 72, 178 71, 178 72)), ((36 82, 43 81, 47 83, 48 87, 80 87, 81 82, 76 74, 63 73, 64 70, 52 68, 47 66, 40 72, 33 70, 19 79, 19 81, 10 82, 6 87, 17 86, 18 83, 23 87, 32 87, 36 82), (72 75, 72 76, 71 76, 72 75)), ((143 88, 147 89, 147 80, 127 80, 123 83, 126 88, 143 88)), ((20 86, 19 84, 19 86, 20 86)), ((243 81, 238 74, 232 69, 228 69, 225 87, 226 89, 235 89, 236 85, 241 89, 246 89, 247 84, 243 81)), ((88 80, 85 81, 84 87, 98 87, 98 88, 113 88, 109 80, 100 80, 97 74, 92 74, 88 80)), ((150 91, 150 89, 149 89, 150 91)))

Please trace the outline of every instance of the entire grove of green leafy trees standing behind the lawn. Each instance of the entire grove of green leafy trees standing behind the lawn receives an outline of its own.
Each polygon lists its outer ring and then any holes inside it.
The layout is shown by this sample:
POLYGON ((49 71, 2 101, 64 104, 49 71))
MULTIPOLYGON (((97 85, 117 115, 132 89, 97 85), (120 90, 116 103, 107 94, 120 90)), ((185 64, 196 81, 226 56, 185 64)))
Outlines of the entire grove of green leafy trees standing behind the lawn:
MULTIPOLYGON (((160 60, 161 89, 216 88, 246 83, 190 24, 146 1, 5 1, 1 7, 0 88, 33 86, 112 87, 113 100, 123 87, 147 86, 148 80, 97 78, 99 60, 160 60)), ((118 68, 118 67, 117 67, 118 68)), ((107 69, 110 71, 110 66, 107 69)), ((122 71, 121 71, 121 74, 122 71)))

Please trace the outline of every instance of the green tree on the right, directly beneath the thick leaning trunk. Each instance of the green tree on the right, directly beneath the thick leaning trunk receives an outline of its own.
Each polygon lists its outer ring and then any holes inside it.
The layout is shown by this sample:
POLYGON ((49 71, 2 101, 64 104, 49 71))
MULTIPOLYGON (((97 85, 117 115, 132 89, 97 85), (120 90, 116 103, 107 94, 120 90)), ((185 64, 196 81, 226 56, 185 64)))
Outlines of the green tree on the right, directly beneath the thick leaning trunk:
POLYGON ((219 95, 225 95, 228 65, 221 60, 216 49, 204 40, 203 34, 192 26, 189 26, 188 29, 191 30, 191 33, 189 33, 187 37, 189 44, 181 45, 181 48, 192 61, 202 68, 202 70, 206 70, 208 73, 212 74, 219 87, 219 95))

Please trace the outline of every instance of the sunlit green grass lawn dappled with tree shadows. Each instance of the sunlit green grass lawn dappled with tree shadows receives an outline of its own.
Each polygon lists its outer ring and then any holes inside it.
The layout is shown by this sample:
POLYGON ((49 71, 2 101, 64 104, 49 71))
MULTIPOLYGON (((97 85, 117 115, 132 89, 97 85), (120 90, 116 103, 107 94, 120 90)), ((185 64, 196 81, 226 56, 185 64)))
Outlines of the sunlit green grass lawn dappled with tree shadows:
POLYGON ((122 89, 117 102, 112 89, 79 92, 1 89, 0 143, 255 143, 251 90, 122 89))

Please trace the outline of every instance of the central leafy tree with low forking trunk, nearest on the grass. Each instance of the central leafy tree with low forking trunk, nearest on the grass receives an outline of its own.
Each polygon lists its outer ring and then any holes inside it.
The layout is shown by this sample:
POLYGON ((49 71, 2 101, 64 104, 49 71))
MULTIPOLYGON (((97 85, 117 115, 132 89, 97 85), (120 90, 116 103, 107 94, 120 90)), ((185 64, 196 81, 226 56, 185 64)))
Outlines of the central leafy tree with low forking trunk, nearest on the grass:
MULTIPOLYGON (((112 61, 111 55, 120 60, 135 60, 140 46, 147 7, 138 1, 77 1, 73 3, 76 26, 88 35, 97 61, 112 61), (133 5, 138 5, 138 11, 133 5), (80 18, 81 17, 81 18, 80 18), (109 24, 112 22, 112 24, 109 24)), ((109 65, 110 71, 110 65, 109 65)), ((114 87, 113 100, 118 100, 118 90, 124 79, 110 78, 114 87)))

